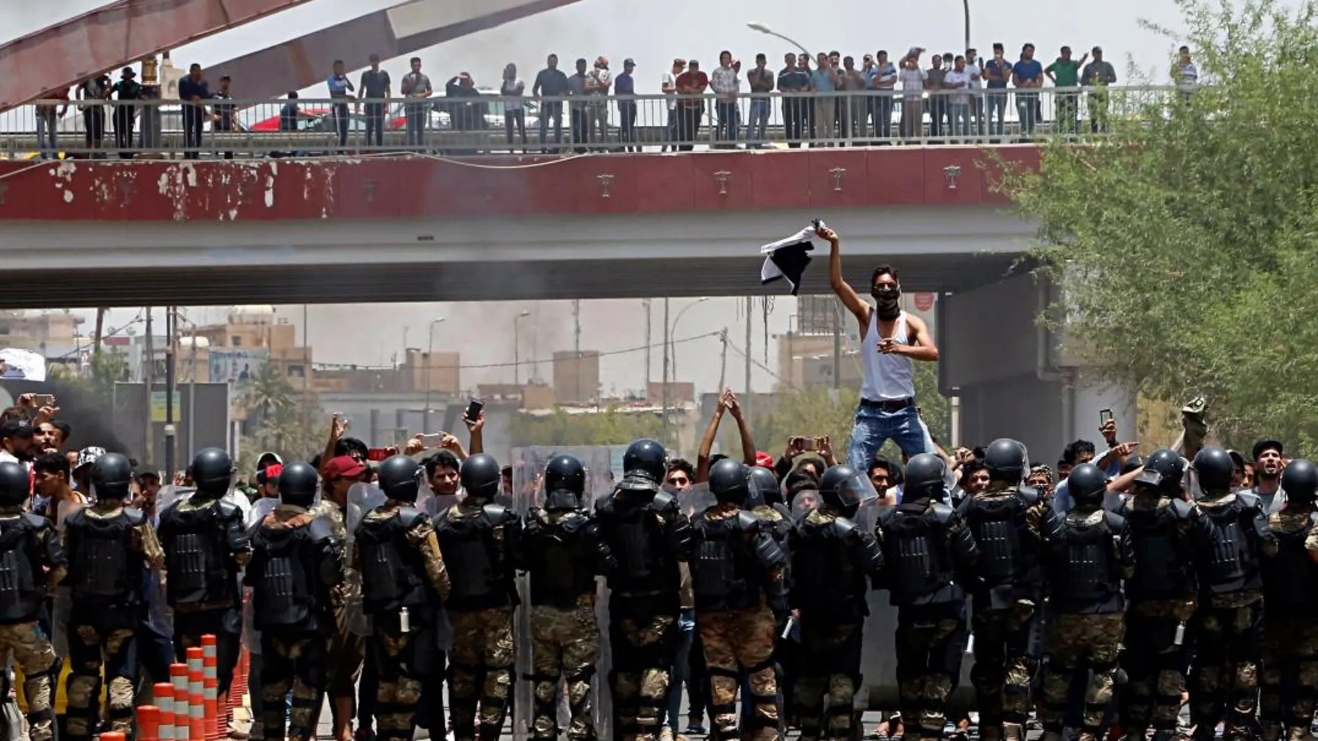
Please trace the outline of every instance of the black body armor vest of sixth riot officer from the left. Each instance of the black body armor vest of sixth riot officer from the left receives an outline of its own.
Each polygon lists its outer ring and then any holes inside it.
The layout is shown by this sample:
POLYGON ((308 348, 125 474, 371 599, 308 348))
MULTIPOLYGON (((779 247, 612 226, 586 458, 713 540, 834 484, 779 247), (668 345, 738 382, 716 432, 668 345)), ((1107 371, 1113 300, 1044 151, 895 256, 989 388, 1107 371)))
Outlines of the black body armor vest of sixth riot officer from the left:
POLYGON ((510 574, 494 540, 494 529, 507 509, 501 504, 486 504, 467 517, 456 516, 457 512, 457 508, 451 508, 435 526, 444 569, 452 583, 448 607, 485 609, 510 604, 510 574))

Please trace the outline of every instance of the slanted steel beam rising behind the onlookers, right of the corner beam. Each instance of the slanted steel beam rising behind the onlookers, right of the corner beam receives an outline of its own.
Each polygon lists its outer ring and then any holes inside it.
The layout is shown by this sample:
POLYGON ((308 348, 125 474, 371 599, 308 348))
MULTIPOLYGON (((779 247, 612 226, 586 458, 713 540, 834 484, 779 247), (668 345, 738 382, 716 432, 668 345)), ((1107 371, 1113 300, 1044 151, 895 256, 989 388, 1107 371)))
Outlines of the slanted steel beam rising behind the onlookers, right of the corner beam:
MULTIPOLYGON (((380 54, 381 59, 394 59, 576 1, 529 0, 515 8, 402 37, 390 22, 390 9, 386 8, 228 62, 210 64, 208 74, 212 79, 217 79, 219 75, 232 75, 235 80, 243 80, 241 97, 277 97, 290 89, 323 83, 333 59, 343 59, 348 70, 357 70, 368 64, 370 54, 380 54)), ((394 93, 397 92, 395 87, 394 93)))

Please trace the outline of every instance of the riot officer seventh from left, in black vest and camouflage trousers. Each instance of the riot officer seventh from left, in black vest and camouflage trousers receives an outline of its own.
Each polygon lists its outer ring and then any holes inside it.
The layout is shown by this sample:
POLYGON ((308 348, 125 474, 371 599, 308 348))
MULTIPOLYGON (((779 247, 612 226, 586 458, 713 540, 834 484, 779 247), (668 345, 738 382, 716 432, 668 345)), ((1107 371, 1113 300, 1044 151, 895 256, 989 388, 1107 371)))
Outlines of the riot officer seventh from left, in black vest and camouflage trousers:
POLYGON ((544 466, 544 508, 526 513, 521 566, 530 575, 532 738, 558 738, 558 688, 567 683, 568 738, 594 738, 590 678, 600 657, 596 575, 612 561, 583 508, 585 466, 555 455, 544 466))

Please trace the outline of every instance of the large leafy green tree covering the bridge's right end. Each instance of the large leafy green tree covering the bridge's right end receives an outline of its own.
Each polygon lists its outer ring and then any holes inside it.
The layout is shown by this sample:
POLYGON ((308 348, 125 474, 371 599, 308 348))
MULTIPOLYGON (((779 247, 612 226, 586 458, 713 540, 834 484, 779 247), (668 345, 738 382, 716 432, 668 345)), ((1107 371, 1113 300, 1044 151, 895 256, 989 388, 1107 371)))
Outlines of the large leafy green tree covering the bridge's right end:
POLYGON ((1219 84, 1149 101, 1102 141, 1045 145, 1037 172, 1008 171, 1000 187, 1040 222, 1068 351, 1156 401, 1206 395, 1227 442, 1269 434, 1313 450, 1315 5, 1178 4, 1173 47, 1219 84))

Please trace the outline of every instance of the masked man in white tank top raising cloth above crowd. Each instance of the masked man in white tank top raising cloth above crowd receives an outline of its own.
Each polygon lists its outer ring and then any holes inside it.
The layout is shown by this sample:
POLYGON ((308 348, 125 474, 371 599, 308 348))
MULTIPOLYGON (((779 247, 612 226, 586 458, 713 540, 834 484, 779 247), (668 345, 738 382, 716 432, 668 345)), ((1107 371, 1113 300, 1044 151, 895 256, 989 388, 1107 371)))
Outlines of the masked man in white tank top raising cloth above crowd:
POLYGON ((846 462, 857 471, 866 471, 879 447, 892 440, 907 455, 927 453, 928 436, 915 404, 915 363, 938 359, 938 349, 920 317, 902 311, 902 284, 898 272, 880 265, 870 276, 871 307, 842 279, 842 257, 838 236, 832 229, 818 230, 832 246, 828 276, 833 292, 851 311, 861 328, 861 358, 865 380, 861 403, 855 409, 851 445, 846 462))

